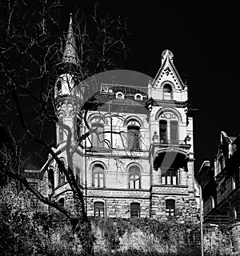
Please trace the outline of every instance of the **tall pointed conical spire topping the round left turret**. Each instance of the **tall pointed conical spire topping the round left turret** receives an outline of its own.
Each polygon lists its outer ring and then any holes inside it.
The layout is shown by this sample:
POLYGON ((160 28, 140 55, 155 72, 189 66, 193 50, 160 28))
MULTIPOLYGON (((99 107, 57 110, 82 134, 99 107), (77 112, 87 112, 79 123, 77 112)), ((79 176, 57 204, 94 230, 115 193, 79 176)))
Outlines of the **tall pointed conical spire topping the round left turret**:
POLYGON ((77 54, 77 48, 76 48, 76 42, 74 38, 74 30, 73 30, 72 24, 73 24, 72 14, 70 14, 70 23, 69 23, 69 29, 67 32, 66 45, 65 45, 65 50, 62 57, 62 62, 73 63, 77 65, 78 54, 77 54))

